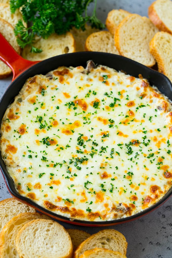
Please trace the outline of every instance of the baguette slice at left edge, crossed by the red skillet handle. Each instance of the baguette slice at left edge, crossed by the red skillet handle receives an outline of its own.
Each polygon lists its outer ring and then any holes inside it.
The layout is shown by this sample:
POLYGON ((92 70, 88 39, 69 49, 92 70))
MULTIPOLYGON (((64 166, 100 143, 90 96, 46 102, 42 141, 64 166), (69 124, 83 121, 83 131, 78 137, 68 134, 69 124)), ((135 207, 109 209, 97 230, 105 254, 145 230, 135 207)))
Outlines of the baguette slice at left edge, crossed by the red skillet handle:
MULTIPOLYGON (((20 47, 17 44, 12 25, 0 18, 0 33, 12 45, 15 51, 20 54, 20 47)), ((0 60, 0 79, 6 78, 12 74, 11 69, 0 60)))

